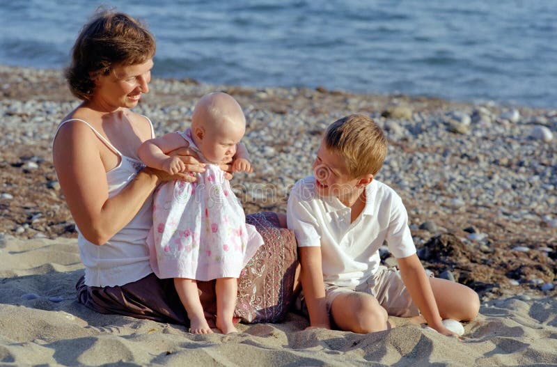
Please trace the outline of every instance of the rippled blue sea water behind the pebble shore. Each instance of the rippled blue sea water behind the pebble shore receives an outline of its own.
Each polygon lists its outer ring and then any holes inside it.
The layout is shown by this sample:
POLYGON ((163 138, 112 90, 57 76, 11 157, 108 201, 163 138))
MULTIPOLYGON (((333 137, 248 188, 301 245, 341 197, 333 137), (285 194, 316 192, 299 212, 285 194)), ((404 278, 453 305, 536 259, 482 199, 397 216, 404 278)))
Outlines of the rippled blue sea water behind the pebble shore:
POLYGON ((554 0, 0 1, 0 64, 63 68, 100 4, 148 23, 155 77, 557 107, 554 0))

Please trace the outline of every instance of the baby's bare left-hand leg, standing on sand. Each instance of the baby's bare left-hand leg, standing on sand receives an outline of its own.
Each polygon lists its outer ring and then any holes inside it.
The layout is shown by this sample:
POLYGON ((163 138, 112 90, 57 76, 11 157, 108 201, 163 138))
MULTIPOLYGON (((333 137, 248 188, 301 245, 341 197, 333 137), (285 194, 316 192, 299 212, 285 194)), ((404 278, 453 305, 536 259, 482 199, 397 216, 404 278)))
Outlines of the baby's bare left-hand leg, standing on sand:
POLYGON ((193 334, 212 334, 213 331, 203 314, 197 282, 194 279, 175 278, 174 286, 189 318, 189 332, 193 334))

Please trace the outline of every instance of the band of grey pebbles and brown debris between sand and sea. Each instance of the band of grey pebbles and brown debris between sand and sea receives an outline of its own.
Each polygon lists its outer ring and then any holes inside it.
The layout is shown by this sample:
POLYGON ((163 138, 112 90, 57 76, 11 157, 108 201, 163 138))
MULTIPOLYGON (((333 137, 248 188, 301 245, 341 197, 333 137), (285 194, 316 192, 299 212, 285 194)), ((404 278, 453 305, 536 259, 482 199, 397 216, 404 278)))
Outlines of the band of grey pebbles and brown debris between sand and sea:
MULTIPOLYGON (((75 237, 50 144, 78 102, 60 70, 0 66, 0 80, 0 237, 75 237)), ((324 128, 347 114, 369 114, 390 143, 376 178, 402 196, 427 268, 484 300, 555 294, 557 110, 156 76, 150 86, 136 111, 157 134, 184 130, 209 91, 240 102, 254 172, 236 175, 233 187, 246 213, 284 212, 290 186, 311 173, 324 128)))

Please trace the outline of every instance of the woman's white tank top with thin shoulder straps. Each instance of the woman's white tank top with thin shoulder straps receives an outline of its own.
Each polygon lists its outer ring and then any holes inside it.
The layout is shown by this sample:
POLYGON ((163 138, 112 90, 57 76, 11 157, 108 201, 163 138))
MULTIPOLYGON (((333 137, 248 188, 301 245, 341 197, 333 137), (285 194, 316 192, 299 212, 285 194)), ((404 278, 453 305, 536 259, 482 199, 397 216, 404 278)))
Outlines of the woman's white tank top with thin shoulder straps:
MULTIPOLYGON (((146 117, 147 118, 147 117, 146 117)), ((151 137, 155 136, 151 121, 151 137)), ((143 162, 120 153, 95 128, 84 120, 71 118, 63 121, 80 121, 91 127, 91 130, 120 157, 120 164, 107 172, 109 197, 117 195, 127 186, 145 165, 143 162)), ((56 134, 58 134, 58 130, 56 134)), ((56 138, 56 134, 54 137, 56 138)), ((102 246, 86 240, 76 226, 79 255, 85 265, 85 284, 87 286, 123 286, 138 281, 152 273, 149 265, 149 249, 146 245, 147 234, 152 226, 152 196, 143 204, 136 216, 116 235, 102 246)))

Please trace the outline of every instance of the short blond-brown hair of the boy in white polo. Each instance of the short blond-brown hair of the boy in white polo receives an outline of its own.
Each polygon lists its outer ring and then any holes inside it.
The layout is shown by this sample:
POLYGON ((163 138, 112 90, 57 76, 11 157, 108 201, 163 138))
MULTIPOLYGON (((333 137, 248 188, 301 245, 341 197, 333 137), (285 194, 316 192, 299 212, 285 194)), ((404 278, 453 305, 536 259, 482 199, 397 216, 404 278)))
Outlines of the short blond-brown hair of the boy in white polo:
POLYGON ((345 158, 352 178, 375 175, 387 154, 387 139, 372 118, 350 115, 327 127, 323 139, 327 149, 345 158))

